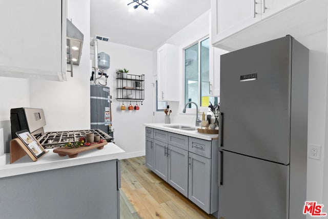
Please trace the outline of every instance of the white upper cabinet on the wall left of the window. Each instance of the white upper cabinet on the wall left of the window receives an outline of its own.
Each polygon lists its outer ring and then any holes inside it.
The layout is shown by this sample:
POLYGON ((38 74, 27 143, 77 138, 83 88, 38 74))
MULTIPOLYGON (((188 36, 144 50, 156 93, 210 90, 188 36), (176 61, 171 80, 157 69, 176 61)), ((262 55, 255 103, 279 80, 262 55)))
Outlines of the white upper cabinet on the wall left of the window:
POLYGON ((179 49, 164 44, 157 49, 158 101, 179 101, 179 49))

